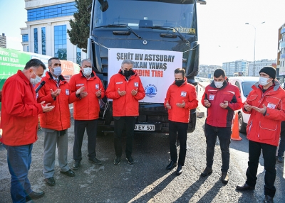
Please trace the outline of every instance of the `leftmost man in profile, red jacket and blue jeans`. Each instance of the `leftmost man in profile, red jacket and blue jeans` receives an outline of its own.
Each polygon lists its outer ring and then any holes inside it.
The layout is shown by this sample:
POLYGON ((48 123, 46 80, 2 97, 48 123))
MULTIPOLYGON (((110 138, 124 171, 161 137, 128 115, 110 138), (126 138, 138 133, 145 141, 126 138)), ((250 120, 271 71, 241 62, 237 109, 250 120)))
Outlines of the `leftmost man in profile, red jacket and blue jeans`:
POLYGON ((0 141, 7 150, 7 163, 11 174, 11 198, 13 202, 38 199, 44 192, 33 192, 28 180, 31 150, 38 139, 38 114, 53 110, 44 101, 36 102, 33 85, 41 81, 46 66, 38 59, 29 60, 24 70, 9 77, 4 83, 0 141))

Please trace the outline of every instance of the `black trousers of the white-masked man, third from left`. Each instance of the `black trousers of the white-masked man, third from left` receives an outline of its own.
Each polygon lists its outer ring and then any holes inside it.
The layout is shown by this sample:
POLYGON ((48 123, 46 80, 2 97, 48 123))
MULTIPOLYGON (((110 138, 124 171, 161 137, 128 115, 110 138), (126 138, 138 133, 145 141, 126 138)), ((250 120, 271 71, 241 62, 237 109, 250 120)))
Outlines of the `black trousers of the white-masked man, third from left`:
POLYGON ((97 121, 95 120, 74 120, 74 144, 73 144, 73 159, 76 161, 82 160, 81 147, 83 136, 86 129, 88 136, 88 157, 96 157, 96 136, 97 136, 97 121))

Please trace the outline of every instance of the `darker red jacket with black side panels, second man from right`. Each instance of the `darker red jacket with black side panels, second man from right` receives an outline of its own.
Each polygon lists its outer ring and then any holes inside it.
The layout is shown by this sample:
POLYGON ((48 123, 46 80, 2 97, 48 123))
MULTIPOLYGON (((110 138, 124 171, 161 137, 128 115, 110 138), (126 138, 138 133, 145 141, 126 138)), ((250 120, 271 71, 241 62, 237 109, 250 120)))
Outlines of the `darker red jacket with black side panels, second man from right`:
POLYGON ((229 82, 224 82, 221 88, 209 84, 203 94, 201 103, 204 106, 204 99, 207 99, 211 106, 207 108, 206 124, 214 127, 231 127, 234 111, 242 108, 242 99, 239 88, 229 82), (228 101, 228 106, 223 109, 220 103, 228 101))

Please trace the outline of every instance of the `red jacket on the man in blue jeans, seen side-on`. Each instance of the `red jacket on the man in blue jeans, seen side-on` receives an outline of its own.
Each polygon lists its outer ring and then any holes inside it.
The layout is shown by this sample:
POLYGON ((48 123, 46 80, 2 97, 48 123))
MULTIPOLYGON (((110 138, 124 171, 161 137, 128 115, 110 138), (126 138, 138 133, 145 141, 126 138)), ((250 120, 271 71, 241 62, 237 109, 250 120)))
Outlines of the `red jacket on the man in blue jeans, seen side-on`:
POLYGON ((18 72, 4 83, 1 109, 0 141, 7 146, 24 146, 38 139, 38 114, 43 113, 36 102, 36 92, 26 76, 18 72))

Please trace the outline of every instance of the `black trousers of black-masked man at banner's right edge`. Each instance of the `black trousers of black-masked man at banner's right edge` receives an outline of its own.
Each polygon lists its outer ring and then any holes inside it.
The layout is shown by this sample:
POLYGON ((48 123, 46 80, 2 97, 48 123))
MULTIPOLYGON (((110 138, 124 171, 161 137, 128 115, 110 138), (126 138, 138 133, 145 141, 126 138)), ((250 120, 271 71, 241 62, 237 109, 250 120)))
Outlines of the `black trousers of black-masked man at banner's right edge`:
POLYGON ((177 162, 177 136, 180 142, 178 165, 184 165, 187 150, 187 128, 188 124, 169 121, 169 138, 170 138, 170 157, 175 163, 177 162))

